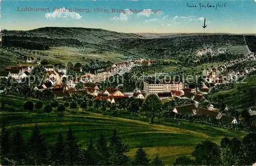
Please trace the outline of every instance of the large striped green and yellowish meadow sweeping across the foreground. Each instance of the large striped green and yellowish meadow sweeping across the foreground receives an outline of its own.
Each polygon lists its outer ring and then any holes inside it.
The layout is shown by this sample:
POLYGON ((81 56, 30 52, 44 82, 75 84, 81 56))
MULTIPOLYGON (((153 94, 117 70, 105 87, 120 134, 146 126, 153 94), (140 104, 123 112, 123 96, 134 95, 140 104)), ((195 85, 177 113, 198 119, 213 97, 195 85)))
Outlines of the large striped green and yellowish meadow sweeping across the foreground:
POLYGON ((142 144, 148 157, 153 158, 159 154, 165 164, 173 163, 179 155, 191 157, 190 154, 195 146, 205 139, 219 144, 224 136, 242 138, 246 134, 243 131, 191 122, 156 121, 155 124, 149 124, 142 118, 114 117, 88 112, 65 113, 63 117, 54 112, 50 116, 44 113, 0 113, 0 120, 3 121, 4 118, 8 122, 8 129, 13 132, 19 126, 25 139, 30 136, 31 130, 37 123, 49 144, 55 143, 59 132, 66 135, 71 126, 82 148, 86 148, 90 139, 95 141, 101 132, 106 137, 110 137, 113 129, 116 128, 124 143, 129 144, 129 156, 134 156, 137 148, 142 144))

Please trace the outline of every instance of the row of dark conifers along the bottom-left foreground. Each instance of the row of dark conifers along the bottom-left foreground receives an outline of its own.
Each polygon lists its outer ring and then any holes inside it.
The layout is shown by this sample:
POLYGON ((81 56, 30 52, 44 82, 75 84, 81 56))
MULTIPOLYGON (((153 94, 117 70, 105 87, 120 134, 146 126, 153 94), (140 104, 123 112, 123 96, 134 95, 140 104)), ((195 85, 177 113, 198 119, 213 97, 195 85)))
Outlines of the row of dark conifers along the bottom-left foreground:
POLYGON ((122 142, 116 129, 109 141, 107 140, 101 133, 95 143, 90 139, 87 148, 83 149, 70 127, 66 136, 59 132, 55 143, 49 145, 37 125, 27 141, 24 140, 19 127, 11 135, 3 125, 0 135, 1 163, 3 165, 163 165, 158 155, 153 159, 148 158, 142 145, 133 158, 127 156, 128 145, 122 142))

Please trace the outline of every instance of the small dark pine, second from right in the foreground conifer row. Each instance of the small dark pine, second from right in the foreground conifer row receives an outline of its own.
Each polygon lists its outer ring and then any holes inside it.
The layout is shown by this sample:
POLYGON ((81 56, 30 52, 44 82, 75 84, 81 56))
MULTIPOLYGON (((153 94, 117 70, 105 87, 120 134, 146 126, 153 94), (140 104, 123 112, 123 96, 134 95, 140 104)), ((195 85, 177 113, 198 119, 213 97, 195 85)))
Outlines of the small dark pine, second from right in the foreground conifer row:
POLYGON ((146 151, 143 150, 142 145, 140 145, 139 149, 137 150, 134 159, 132 161, 133 165, 148 165, 150 160, 146 157, 146 151))

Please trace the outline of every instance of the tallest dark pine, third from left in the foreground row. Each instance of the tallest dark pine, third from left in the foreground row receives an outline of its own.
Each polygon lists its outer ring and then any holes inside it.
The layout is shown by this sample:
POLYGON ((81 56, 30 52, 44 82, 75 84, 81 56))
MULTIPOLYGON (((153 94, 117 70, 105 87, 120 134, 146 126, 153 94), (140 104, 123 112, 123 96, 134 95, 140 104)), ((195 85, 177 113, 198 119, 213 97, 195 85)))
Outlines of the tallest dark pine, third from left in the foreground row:
POLYGON ((37 125, 28 139, 27 149, 29 164, 42 165, 48 162, 47 142, 45 137, 40 134, 37 125))

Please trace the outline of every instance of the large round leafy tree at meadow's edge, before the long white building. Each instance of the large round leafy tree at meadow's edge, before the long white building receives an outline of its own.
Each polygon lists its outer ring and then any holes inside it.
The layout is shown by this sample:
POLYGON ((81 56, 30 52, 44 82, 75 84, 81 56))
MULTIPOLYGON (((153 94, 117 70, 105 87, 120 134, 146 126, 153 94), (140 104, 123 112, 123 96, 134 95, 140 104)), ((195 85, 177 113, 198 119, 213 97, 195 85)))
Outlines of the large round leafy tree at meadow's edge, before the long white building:
POLYGON ((161 101, 158 99, 156 94, 150 94, 143 102, 140 113, 146 117, 151 118, 151 123, 154 123, 155 117, 161 116, 161 101))

